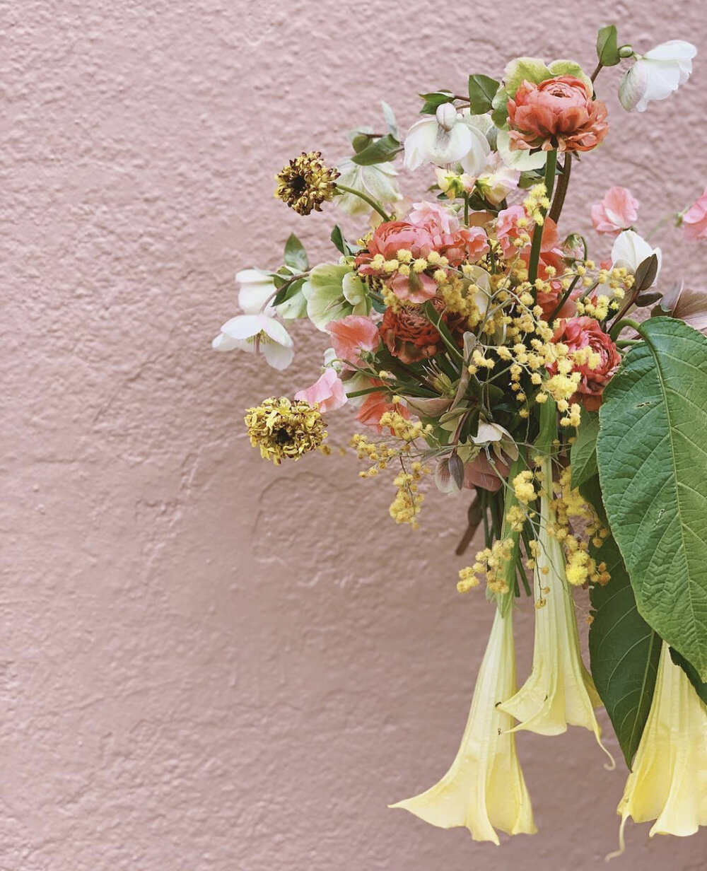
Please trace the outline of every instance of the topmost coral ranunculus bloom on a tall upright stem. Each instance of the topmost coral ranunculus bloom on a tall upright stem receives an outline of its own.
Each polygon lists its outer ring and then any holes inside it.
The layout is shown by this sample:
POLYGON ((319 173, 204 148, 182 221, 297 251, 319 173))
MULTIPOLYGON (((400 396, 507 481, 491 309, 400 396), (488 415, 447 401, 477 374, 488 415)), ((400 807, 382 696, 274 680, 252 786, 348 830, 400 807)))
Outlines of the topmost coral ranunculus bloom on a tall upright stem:
POLYGON ((510 147, 549 152, 589 152, 609 130, 606 106, 574 76, 548 78, 540 84, 523 81, 508 100, 510 147))

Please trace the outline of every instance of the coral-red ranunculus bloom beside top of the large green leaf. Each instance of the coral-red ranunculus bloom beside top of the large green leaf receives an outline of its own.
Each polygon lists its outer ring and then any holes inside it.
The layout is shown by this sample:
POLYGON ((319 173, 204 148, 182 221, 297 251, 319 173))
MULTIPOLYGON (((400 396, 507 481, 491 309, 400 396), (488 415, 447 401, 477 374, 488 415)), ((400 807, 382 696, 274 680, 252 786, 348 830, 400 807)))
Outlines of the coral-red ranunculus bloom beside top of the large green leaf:
MULTIPOLYGON (((575 370, 582 373, 582 381, 572 397, 572 402, 582 402, 588 411, 596 411, 602 404, 603 389, 621 362, 616 345, 604 333, 598 321, 587 317, 561 321, 555 330, 553 341, 562 341, 567 345, 570 355, 581 348, 589 348, 598 354, 598 364, 594 368, 589 367, 589 363, 575 363, 575 370)), ((548 368, 555 375, 556 365, 548 368)))

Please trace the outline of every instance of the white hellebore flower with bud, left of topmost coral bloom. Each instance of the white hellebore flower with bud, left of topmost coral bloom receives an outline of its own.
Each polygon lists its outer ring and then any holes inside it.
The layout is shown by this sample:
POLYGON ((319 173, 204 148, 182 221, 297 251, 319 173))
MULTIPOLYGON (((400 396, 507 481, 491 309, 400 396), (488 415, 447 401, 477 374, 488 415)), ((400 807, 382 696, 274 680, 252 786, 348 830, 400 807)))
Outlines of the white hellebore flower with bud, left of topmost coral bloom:
POLYGON ((423 163, 461 164, 465 172, 478 175, 491 148, 473 118, 461 115, 453 104, 443 103, 437 107, 434 118, 415 122, 405 138, 407 169, 417 169, 423 163))

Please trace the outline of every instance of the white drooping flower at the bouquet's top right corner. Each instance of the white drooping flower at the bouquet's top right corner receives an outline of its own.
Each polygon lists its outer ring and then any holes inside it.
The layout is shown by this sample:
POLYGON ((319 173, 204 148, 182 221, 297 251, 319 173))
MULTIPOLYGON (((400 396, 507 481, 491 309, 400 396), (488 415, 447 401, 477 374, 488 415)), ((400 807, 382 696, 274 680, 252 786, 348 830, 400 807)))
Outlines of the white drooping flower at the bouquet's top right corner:
POLYGON ((650 100, 664 100, 690 77, 697 49, 682 39, 671 39, 647 51, 624 73, 619 100, 626 111, 645 111, 650 100))

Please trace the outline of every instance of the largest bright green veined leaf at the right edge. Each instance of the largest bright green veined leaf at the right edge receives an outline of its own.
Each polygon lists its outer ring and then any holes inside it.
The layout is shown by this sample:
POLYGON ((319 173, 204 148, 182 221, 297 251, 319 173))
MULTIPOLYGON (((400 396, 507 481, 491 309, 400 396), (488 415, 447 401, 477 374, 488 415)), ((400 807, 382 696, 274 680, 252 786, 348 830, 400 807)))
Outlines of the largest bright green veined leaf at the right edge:
POLYGON ((651 318, 604 391, 596 456, 638 610, 707 679, 707 338, 651 318))

